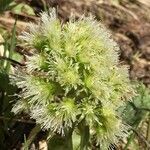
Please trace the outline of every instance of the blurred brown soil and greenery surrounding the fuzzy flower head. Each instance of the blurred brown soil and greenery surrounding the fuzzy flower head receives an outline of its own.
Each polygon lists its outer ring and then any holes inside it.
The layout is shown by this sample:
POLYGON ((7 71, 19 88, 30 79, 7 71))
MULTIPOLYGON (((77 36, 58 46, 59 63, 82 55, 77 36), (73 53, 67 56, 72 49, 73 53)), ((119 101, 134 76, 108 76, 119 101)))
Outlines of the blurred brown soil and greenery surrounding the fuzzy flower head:
POLYGON ((76 19, 92 14, 110 30, 121 49, 120 62, 129 65, 131 80, 139 84, 123 116, 132 126, 129 137, 114 149, 150 150, 150 0, 0 0, 0 150, 48 149, 47 132, 37 129, 29 116, 11 113, 20 89, 10 84, 9 76, 30 55, 17 36, 50 7, 62 22, 71 14, 76 19))

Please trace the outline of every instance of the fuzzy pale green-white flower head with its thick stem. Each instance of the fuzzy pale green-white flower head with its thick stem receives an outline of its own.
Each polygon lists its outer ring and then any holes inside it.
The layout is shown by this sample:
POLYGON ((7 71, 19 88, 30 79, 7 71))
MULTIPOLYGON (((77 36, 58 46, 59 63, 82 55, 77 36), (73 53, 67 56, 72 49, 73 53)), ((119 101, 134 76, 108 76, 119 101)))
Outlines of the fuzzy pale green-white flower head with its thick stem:
POLYGON ((53 149, 72 150, 75 132, 81 150, 92 143, 107 149, 126 136, 117 110, 134 90, 128 69, 118 62, 119 48, 101 23, 82 16, 62 24, 53 9, 20 40, 34 55, 13 78, 22 91, 12 111, 29 113, 49 130, 49 147, 55 139, 53 149))

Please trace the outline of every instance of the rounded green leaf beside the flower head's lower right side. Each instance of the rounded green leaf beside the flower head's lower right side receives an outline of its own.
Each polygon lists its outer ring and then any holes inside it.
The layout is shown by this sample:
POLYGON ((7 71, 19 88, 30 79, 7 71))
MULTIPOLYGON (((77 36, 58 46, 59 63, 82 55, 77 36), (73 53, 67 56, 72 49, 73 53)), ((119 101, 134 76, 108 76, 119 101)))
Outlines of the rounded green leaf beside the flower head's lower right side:
POLYGON ((124 110, 123 118, 132 127, 138 126, 150 111, 150 89, 143 83, 136 85, 137 95, 129 101, 124 110))

